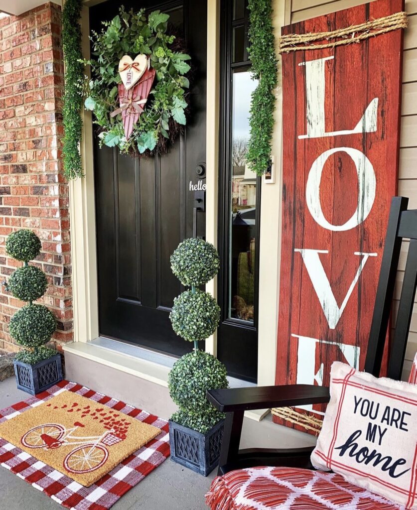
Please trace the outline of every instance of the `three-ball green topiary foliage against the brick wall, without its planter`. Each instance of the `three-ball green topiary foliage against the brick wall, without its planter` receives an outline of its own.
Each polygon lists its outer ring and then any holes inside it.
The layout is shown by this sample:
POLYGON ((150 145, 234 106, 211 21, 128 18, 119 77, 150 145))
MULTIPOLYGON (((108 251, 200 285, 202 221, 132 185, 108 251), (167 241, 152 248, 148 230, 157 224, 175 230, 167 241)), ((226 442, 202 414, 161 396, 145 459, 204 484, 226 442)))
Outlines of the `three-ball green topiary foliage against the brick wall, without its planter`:
POLYGON ((30 365, 57 353, 44 346, 56 328, 54 314, 43 304, 33 304, 43 296, 48 285, 44 272, 28 264, 39 255, 40 248, 40 239, 30 230, 13 232, 6 241, 7 254, 24 263, 10 276, 7 290, 17 299, 29 302, 13 315, 9 330, 17 344, 26 347, 16 354, 16 359, 30 365))

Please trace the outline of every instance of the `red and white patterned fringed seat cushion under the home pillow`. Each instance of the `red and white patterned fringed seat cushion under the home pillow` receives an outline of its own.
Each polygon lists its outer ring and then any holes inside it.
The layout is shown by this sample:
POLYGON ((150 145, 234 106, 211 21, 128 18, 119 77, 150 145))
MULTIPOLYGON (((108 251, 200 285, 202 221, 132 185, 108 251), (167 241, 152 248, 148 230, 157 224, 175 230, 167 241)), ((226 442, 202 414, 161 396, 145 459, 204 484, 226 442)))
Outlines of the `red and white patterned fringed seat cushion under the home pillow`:
POLYGON ((308 469, 258 467, 215 478, 211 510, 405 510, 341 475, 308 469))

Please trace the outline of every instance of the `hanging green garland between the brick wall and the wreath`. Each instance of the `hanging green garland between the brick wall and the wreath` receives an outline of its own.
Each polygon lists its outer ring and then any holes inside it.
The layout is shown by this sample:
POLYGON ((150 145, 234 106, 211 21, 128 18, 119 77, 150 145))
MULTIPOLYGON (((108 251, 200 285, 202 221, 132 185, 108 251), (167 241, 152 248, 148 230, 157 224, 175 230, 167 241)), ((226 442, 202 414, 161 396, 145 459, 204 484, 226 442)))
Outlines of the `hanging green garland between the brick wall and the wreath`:
POLYGON ((62 152, 64 175, 68 180, 83 175, 79 148, 83 127, 81 120, 83 100, 79 90, 79 83, 83 78, 80 27, 82 5, 83 0, 66 0, 62 11, 62 46, 65 65, 62 152))

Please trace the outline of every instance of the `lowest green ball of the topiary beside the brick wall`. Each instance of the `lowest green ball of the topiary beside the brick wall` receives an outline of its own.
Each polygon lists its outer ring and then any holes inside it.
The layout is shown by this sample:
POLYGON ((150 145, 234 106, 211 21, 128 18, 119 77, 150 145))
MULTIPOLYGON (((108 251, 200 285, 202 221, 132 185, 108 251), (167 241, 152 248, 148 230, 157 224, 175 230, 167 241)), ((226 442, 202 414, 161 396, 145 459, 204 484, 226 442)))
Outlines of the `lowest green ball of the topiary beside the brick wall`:
POLYGON ((43 304, 27 304, 10 319, 10 335, 19 345, 40 347, 56 328, 54 314, 43 304))

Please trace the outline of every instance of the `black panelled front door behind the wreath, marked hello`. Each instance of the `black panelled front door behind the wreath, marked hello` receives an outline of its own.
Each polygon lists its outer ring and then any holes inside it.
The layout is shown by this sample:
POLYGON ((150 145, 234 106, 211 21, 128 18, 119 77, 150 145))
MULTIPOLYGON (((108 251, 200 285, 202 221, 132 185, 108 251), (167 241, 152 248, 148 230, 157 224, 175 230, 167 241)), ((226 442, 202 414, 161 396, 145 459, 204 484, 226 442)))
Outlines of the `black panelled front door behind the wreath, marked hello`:
MULTIPOLYGON (((155 158, 100 149, 94 137, 100 335, 182 355, 192 345, 175 335, 168 318, 182 290, 169 257, 192 236, 191 185, 198 183, 195 169, 206 159, 207 7, 201 0, 124 5, 170 14, 172 30, 185 38, 192 59, 190 114, 184 134, 168 154, 155 158)), ((90 28, 101 30, 101 21, 117 12, 113 0, 90 8, 90 28)), ((197 234, 204 233, 199 212, 197 234)))

